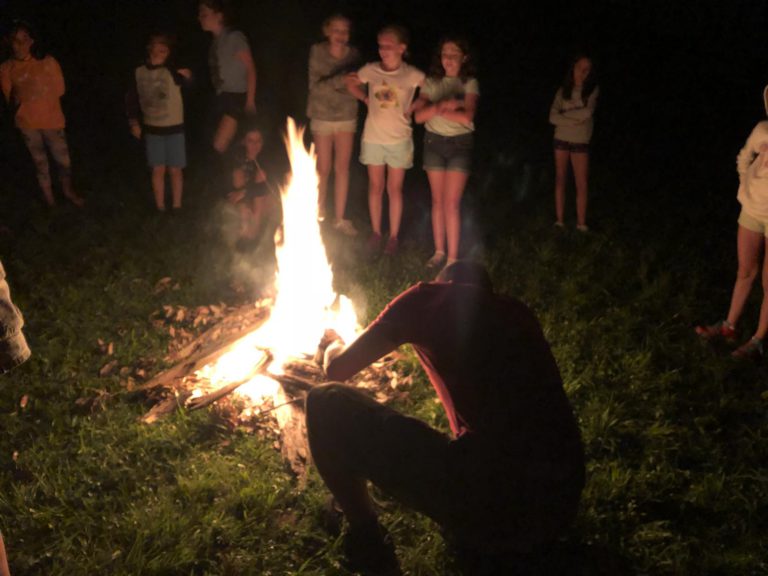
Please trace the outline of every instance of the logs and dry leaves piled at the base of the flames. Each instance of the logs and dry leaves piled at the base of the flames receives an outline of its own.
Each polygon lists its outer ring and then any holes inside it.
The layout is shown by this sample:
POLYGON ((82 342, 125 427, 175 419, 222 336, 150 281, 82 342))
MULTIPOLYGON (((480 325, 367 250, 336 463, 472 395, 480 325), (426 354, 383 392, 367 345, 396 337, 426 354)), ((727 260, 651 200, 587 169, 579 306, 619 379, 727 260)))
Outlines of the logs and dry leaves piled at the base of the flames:
MULTIPOLYGON (((238 388, 256 374, 266 374, 272 362, 269 350, 254 355, 254 366, 247 378, 214 386, 197 374, 198 370, 216 362, 247 334, 258 329, 269 317, 272 301, 261 300, 239 307, 226 305, 163 306, 150 317, 157 330, 170 336, 167 368, 152 377, 159 362, 139 359, 131 366, 120 367, 114 359, 114 344, 98 342, 99 353, 107 362, 101 376, 119 375, 130 398, 148 406, 142 421, 152 424, 177 410, 208 409, 211 417, 230 430, 244 430, 271 439, 294 472, 303 476, 309 459, 304 424, 304 398, 313 386, 325 381, 322 370, 328 335, 318 343, 314 357, 292 358, 282 367, 282 374, 271 378, 279 384, 274 398, 253 401, 237 394, 238 388)), ((393 353, 360 372, 348 384, 370 392, 377 401, 388 403, 408 395, 411 376, 399 374, 393 353)), ((103 404, 105 396, 82 399, 83 405, 103 404)))

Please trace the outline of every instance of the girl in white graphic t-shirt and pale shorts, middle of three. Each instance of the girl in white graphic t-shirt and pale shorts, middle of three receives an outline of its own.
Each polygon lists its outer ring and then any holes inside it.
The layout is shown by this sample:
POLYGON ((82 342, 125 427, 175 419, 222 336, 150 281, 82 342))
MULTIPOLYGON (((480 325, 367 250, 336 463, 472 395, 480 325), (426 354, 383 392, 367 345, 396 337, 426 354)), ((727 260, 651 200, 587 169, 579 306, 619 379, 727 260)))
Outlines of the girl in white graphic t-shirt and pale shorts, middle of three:
POLYGON ((403 61, 408 33, 387 26, 378 35, 381 61, 366 64, 347 81, 349 91, 368 106, 360 161, 368 166, 368 209, 373 232, 368 240, 371 255, 381 246, 381 215, 386 183, 389 197, 389 240, 384 254, 397 252, 397 235, 403 214, 403 180, 413 165, 411 116, 416 90, 424 73, 403 61), (366 93, 362 85, 368 86, 366 93))

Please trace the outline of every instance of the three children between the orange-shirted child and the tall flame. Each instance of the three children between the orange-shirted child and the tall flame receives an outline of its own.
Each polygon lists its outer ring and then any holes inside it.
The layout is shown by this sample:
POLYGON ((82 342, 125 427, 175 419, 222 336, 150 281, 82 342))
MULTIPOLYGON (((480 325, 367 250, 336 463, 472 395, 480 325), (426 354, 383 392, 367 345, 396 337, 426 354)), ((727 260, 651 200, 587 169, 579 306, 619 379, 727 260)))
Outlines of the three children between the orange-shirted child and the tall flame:
MULTIPOLYGON (((256 112, 256 66, 245 35, 229 26, 222 0, 200 0, 198 20, 213 41, 208 52, 215 90, 212 148, 220 170, 226 166, 227 200, 240 218, 239 236, 256 238, 265 213, 266 174, 258 162, 263 145, 260 130, 251 128, 242 150, 232 162, 223 158, 246 117, 256 112), (232 166, 230 166, 232 165, 232 166)), ((147 163, 152 171, 156 208, 165 211, 165 179, 170 176, 172 208, 182 206, 183 169, 186 167, 184 102, 181 87, 191 77, 186 68, 173 66, 173 41, 164 34, 150 37, 146 62, 136 68, 128 98, 128 122, 136 138, 144 138, 147 163)))

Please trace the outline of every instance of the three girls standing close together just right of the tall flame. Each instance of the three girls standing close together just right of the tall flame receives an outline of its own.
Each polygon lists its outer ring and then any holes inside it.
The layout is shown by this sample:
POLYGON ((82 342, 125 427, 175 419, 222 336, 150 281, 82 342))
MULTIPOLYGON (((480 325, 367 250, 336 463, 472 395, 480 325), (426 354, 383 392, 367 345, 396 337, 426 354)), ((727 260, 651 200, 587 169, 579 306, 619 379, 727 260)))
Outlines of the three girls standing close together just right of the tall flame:
POLYGON ((401 26, 382 28, 377 36, 380 60, 359 66, 359 52, 349 46, 350 21, 341 15, 323 25, 326 41, 309 58, 307 115, 318 154, 319 211, 324 217, 331 166, 334 168, 334 228, 355 235, 344 218, 349 163, 357 129, 355 99, 367 107, 360 162, 368 170, 369 254, 398 250, 405 172, 413 166, 412 116, 426 123, 424 168, 432 189, 435 255, 430 266, 458 257, 459 205, 470 170, 474 113, 479 95, 463 40, 440 42, 429 78, 405 62, 408 33, 401 26), (421 89, 418 98, 417 92, 421 89), (384 192, 389 201, 389 235, 383 240, 384 192))

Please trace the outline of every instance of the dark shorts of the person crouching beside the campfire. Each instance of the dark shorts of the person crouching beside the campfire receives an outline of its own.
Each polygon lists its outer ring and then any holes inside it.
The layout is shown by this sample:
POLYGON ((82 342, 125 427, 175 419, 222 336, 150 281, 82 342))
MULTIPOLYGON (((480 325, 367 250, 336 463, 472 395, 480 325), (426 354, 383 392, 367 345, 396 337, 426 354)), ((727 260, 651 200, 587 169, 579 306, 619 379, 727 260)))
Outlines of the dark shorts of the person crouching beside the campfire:
POLYGON ((527 552, 556 538, 584 482, 578 464, 515 460, 478 436, 451 440, 342 384, 309 393, 307 430, 310 448, 330 435, 345 468, 488 551, 527 552))

